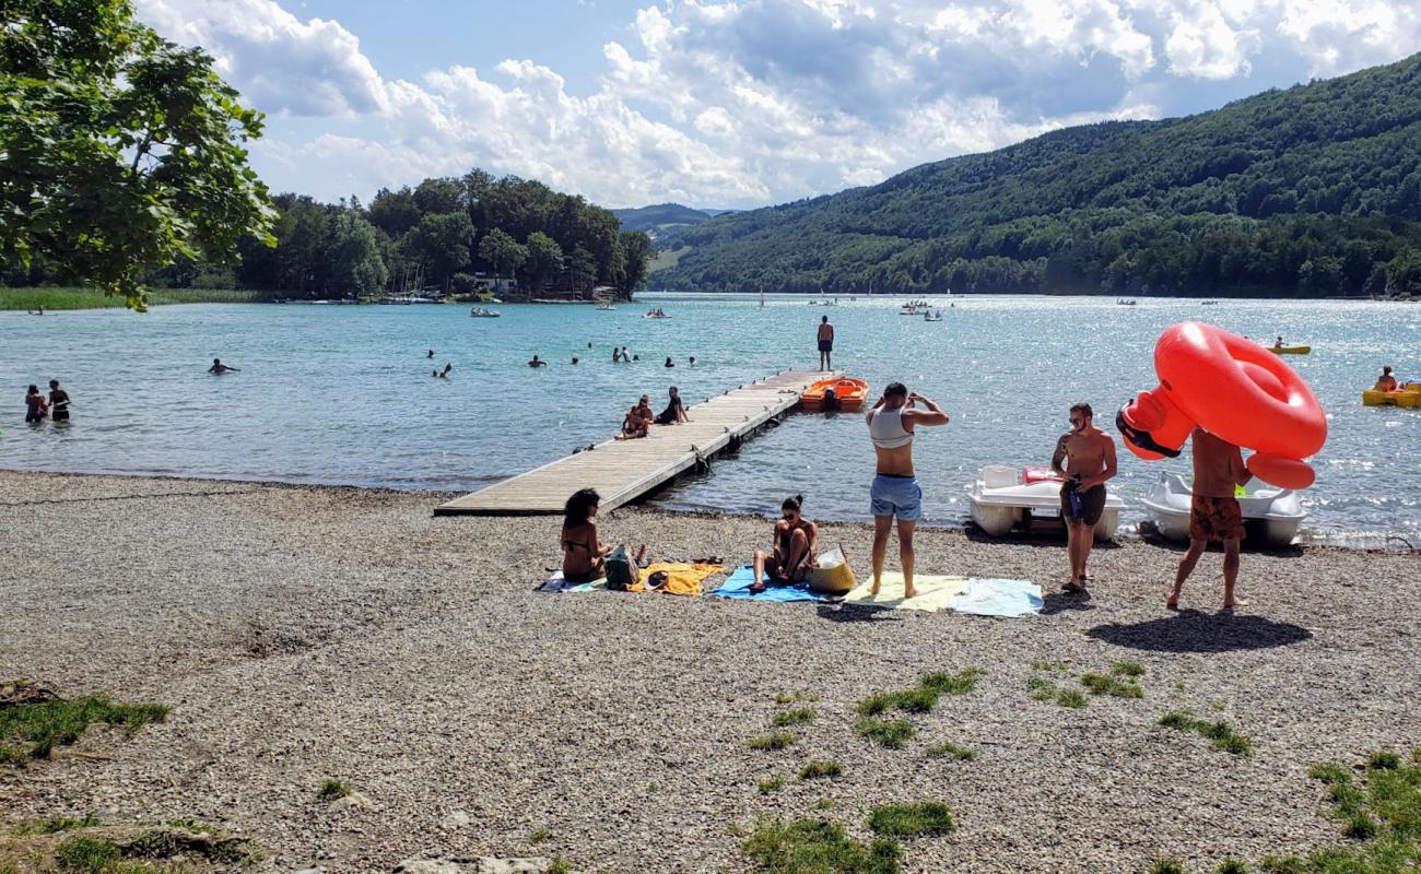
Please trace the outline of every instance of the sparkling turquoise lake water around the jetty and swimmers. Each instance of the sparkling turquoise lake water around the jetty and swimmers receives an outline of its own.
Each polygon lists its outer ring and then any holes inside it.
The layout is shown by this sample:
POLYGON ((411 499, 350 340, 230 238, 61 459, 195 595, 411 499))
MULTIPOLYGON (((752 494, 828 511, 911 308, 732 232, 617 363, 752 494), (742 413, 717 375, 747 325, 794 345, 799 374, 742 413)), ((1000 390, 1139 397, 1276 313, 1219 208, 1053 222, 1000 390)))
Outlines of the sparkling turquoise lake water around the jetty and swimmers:
MULTIPOLYGON (((1330 419, 1304 493, 1312 539, 1421 543, 1421 411, 1364 408, 1381 364, 1421 378, 1421 306, 1383 303, 953 298, 941 323, 898 314, 899 298, 644 296, 614 311, 510 306, 470 318, 459 306, 172 306, 126 311, 0 313, 0 466, 225 479, 476 489, 614 433, 647 392, 689 401, 790 367, 816 367, 821 314, 838 331, 834 365, 892 379, 952 416, 918 439, 929 523, 966 517, 963 489, 986 463, 1046 463, 1066 411, 1088 401, 1101 425, 1152 388, 1160 331, 1212 321, 1313 345, 1289 362, 1330 419), (672 315, 644 320, 647 306, 672 315), (625 345, 639 362, 614 365, 625 345), (426 350, 435 358, 426 358, 426 350), (533 369, 537 354, 551 362, 533 369), (581 362, 571 365, 571 357, 581 362), (662 367, 672 355, 679 367, 662 367), (688 367, 686 358, 696 357, 688 367), (213 357, 242 368, 212 377, 213 357), (453 364, 449 379, 431 369, 453 364), (68 426, 24 425, 27 384, 63 381, 68 426)), ((806 512, 865 519, 872 449, 857 415, 794 416, 655 500, 675 509, 773 512, 803 492, 806 512)), ((1182 460, 1121 452, 1117 487, 1144 495, 1182 460)), ((1137 509, 1125 520, 1138 520, 1137 509)))

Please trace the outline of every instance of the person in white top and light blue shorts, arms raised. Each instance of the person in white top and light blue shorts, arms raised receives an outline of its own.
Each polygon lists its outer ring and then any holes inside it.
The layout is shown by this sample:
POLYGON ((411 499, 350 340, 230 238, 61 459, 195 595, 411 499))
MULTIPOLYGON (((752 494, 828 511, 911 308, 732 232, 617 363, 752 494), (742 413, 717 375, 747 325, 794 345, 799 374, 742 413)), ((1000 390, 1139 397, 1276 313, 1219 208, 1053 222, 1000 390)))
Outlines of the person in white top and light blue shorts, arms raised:
POLYGON ((914 597, 912 590, 912 533, 922 517, 922 487, 912 472, 912 438, 918 425, 946 425, 948 414, 928 398, 909 394, 902 382, 892 382, 884 389, 874 408, 868 411, 868 436, 874 441, 878 456, 874 485, 870 490, 870 513, 874 514, 874 586, 884 576, 884 559, 888 556, 888 537, 892 534, 894 519, 898 520, 898 557, 902 561, 902 595, 914 597), (924 409, 914 409, 922 404, 924 409))

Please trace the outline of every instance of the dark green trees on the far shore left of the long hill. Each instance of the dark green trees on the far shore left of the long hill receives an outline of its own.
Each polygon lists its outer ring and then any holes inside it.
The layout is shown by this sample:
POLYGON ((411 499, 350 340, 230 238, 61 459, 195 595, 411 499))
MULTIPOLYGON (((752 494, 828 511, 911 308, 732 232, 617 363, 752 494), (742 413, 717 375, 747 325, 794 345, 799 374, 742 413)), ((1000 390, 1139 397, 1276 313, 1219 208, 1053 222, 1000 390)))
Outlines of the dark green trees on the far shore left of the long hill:
MULTIPOLYGON (((584 294, 597 286, 630 294, 645 283, 651 239, 622 232, 611 212, 517 176, 475 169, 320 203, 273 198, 276 246, 244 237, 240 261, 183 257, 151 271, 158 287, 254 288, 273 297, 354 298, 435 287, 472 293, 475 273, 514 279, 530 294, 584 294)), ((64 281, 43 257, 0 263, 0 284, 64 281)))

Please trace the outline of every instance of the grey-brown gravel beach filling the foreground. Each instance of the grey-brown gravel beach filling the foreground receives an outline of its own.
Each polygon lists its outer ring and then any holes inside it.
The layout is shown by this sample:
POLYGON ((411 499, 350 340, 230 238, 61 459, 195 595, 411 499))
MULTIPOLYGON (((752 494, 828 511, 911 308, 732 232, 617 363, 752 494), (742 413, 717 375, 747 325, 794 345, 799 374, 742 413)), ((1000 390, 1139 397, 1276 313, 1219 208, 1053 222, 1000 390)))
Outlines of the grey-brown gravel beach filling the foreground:
MULTIPOLYGON (((1216 611, 1218 553, 1171 614, 1171 547, 1097 549, 1081 600, 1056 594, 1060 543, 961 532, 921 533, 919 571, 1032 578, 1046 614, 539 594, 557 519, 435 519, 439 500, 0 472, 0 681, 172 706, 131 739, 92 730, 0 766, 0 827, 190 817, 250 837, 276 871, 470 856, 746 871, 757 817, 867 837, 868 807, 941 800, 958 830, 905 841, 907 871, 1212 870, 1339 843, 1307 769, 1421 742, 1417 556, 1245 553, 1252 604, 1235 614, 1216 611), (1118 659, 1144 667, 1144 698, 1070 709, 1027 688, 1079 688, 1118 659), (978 688, 912 716, 904 749, 854 733, 857 701, 969 667, 978 688), (813 722, 789 749, 747 749, 779 694, 817 696, 794 705, 813 722), (1175 708, 1228 721, 1252 755, 1158 726, 1175 708), (939 740, 978 756, 929 757, 939 740), (810 759, 844 773, 800 780, 810 759), (327 777, 361 799, 318 800, 327 777)), ((746 561, 769 541, 749 517, 622 509, 601 527, 669 559, 746 561)), ((870 529, 823 539, 867 574, 870 529)))

